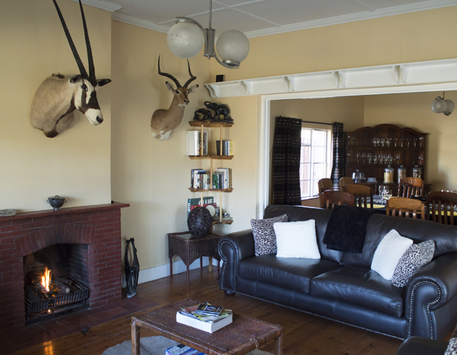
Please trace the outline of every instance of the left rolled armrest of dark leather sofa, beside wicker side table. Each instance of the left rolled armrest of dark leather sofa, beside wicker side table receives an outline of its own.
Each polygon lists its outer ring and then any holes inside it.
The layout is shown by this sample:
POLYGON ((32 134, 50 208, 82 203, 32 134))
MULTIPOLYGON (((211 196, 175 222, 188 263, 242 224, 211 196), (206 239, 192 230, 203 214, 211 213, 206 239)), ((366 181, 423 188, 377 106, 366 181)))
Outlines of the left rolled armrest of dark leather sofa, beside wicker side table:
POLYGON ((219 277, 219 287, 222 290, 235 292, 238 263, 255 256, 253 231, 247 229, 223 236, 219 239, 217 250, 224 261, 219 277))

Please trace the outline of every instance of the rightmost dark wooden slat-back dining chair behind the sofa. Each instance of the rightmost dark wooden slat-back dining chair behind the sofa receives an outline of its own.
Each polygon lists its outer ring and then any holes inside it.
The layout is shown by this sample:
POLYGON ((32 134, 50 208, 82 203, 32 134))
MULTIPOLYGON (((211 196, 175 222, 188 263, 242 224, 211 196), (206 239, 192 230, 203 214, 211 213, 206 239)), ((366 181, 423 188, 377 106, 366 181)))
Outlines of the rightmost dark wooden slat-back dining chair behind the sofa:
POLYGON ((432 191, 426 195, 427 219, 433 222, 455 225, 454 208, 456 206, 457 194, 453 192, 432 191))

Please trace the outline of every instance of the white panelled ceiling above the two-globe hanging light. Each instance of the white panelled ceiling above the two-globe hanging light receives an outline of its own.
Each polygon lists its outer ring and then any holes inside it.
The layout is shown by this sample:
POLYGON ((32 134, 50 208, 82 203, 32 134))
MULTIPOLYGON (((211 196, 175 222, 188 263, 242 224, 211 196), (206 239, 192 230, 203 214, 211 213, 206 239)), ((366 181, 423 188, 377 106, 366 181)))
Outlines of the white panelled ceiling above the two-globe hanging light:
MULTIPOLYGON (((78 0, 72 0, 78 1, 78 0)), ((209 0, 82 0, 112 12, 116 21, 168 32, 176 16, 208 27, 209 0)), ((214 0, 216 37, 237 29, 248 38, 368 18, 456 6, 457 0, 214 0)))

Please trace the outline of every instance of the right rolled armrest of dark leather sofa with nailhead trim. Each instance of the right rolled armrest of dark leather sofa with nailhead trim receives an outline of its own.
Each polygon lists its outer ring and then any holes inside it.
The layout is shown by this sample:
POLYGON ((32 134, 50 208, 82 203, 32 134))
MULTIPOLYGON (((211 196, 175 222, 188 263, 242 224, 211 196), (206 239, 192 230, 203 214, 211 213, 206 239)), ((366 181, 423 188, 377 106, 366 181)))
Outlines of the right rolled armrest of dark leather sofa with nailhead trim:
POLYGON ((448 327, 448 324, 441 322, 447 323, 449 320, 434 317, 432 311, 446 307, 456 295, 457 253, 454 252, 435 258, 408 281, 404 293, 405 315, 409 320, 408 334, 439 339, 439 330, 448 327))

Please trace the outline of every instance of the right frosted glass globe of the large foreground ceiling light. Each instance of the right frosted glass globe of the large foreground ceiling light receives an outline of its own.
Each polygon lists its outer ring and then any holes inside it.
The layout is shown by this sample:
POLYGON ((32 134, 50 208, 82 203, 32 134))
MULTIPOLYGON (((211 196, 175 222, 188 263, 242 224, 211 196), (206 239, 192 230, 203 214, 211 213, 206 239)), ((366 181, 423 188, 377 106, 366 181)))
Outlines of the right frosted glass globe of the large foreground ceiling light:
POLYGON ((222 62, 243 62, 249 54, 249 40, 243 32, 225 31, 217 39, 216 53, 222 62))

